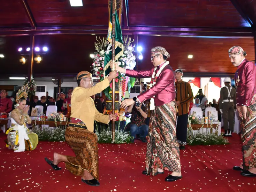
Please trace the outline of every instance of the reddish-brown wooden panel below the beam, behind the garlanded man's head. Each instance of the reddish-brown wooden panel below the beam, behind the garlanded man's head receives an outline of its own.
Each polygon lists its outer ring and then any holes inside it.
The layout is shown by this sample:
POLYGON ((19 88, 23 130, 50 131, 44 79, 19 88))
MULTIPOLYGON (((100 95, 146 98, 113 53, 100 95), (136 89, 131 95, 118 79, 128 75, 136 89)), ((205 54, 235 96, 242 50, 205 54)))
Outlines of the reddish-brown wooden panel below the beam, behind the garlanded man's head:
POLYGON ((236 68, 230 63, 228 49, 234 45, 241 46, 247 52, 247 59, 254 60, 253 38, 192 38, 192 37, 159 37, 139 36, 140 46, 144 48, 143 60, 138 68, 151 68, 150 49, 164 47, 170 53, 171 67, 183 69, 184 73, 235 73, 236 68), (193 59, 188 59, 193 55, 193 59))

